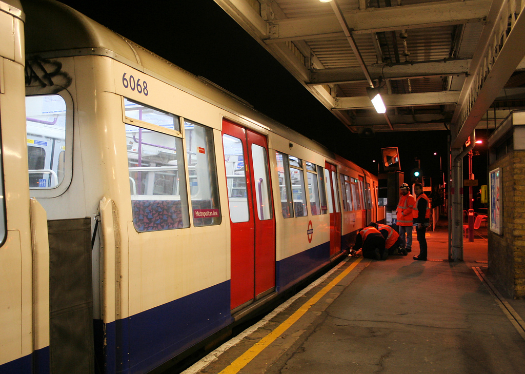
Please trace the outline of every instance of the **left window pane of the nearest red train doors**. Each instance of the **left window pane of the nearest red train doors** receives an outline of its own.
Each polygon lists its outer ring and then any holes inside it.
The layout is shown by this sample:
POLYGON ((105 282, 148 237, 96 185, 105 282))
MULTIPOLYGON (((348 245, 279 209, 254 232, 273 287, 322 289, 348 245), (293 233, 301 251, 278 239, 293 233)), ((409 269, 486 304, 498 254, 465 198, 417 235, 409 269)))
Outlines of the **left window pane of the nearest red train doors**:
POLYGON ((243 142, 238 138, 223 134, 223 147, 230 220, 232 222, 247 222, 250 219, 250 213, 246 192, 243 142))

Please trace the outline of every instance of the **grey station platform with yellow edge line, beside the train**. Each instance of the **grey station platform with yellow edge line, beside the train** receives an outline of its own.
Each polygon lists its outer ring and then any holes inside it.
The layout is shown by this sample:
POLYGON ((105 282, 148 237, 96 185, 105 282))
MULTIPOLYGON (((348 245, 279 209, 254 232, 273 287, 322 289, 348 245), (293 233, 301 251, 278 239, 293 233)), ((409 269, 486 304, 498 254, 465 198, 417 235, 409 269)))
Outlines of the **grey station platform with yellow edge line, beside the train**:
POLYGON ((415 232, 408 256, 347 257, 183 373, 522 374, 525 300, 491 289, 486 228, 448 262, 446 224, 428 261, 415 232))

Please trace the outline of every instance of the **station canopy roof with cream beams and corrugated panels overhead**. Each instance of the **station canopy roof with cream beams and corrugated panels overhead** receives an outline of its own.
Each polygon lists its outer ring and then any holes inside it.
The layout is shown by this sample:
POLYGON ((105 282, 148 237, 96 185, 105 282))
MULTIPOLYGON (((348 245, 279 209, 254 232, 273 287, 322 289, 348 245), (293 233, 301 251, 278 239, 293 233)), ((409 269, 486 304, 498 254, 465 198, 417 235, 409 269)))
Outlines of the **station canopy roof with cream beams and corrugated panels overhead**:
POLYGON ((525 108, 525 1, 215 2, 353 132, 450 129, 461 148, 525 108))

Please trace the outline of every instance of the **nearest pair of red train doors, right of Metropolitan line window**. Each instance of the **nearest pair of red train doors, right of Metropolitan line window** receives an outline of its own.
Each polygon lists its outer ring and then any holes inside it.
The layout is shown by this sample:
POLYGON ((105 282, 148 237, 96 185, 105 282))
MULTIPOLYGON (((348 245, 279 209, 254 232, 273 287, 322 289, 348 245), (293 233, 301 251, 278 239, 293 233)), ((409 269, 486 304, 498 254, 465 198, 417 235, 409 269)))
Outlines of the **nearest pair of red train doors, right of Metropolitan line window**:
POLYGON ((266 137, 226 120, 222 134, 235 309, 275 288, 275 217, 266 137))

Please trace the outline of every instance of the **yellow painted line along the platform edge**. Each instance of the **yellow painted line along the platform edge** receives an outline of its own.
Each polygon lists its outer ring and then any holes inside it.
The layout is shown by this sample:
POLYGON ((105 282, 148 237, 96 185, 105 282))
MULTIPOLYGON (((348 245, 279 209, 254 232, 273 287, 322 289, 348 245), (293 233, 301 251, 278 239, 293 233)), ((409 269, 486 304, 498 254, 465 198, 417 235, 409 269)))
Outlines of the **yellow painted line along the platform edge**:
POLYGON ((250 349, 244 352, 239 358, 230 363, 223 371, 219 374, 235 374, 239 372, 240 369, 244 368, 248 363, 253 360, 262 350, 268 347, 272 341, 281 336, 291 325, 293 325, 299 318, 301 318, 304 313, 310 309, 310 307, 316 304, 321 297, 329 292, 335 285, 342 281, 342 279, 348 275, 354 268, 359 264, 363 259, 360 257, 356 259, 348 268, 346 268, 341 274, 333 279, 332 282, 323 287, 316 295, 312 296, 310 300, 304 303, 299 309, 295 311, 290 317, 288 317, 283 323, 281 323, 277 328, 271 331, 270 334, 266 335, 264 338, 256 342, 250 349))

